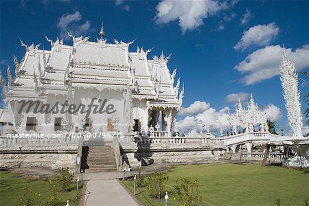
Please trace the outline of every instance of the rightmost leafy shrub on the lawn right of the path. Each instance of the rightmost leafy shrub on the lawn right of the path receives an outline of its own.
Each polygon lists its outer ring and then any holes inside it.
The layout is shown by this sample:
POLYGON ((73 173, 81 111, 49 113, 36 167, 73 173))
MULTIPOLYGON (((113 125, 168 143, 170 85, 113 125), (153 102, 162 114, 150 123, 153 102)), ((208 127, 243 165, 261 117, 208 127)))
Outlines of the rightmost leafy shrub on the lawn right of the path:
POLYGON ((202 197, 199 196, 197 181, 186 178, 176 179, 174 194, 183 206, 198 205, 202 200, 202 197))

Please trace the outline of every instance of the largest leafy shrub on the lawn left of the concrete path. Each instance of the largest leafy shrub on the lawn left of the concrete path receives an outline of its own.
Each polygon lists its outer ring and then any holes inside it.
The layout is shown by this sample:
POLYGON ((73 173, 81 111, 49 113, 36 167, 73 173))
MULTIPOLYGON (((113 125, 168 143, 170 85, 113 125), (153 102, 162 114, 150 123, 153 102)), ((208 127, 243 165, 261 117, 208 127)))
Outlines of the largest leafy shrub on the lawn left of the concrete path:
POLYGON ((69 191, 69 185, 74 178, 74 174, 69 171, 69 168, 60 168, 54 177, 59 192, 69 191))

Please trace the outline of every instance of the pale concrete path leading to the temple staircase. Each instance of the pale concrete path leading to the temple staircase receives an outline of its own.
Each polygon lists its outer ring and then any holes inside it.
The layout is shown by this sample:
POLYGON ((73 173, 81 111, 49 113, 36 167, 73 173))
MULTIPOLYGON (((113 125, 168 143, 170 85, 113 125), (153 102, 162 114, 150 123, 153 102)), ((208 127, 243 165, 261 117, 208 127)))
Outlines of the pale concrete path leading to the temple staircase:
POLYGON ((138 206, 117 180, 90 180, 87 183, 84 206, 100 205, 138 206))

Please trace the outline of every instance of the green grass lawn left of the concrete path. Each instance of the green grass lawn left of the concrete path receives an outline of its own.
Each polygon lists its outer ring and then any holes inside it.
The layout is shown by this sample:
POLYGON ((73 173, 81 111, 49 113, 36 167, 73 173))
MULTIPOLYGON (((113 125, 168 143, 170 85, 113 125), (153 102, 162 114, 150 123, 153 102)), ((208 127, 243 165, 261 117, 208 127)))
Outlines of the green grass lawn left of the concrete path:
MULTIPOLYGON (((31 181, 17 176, 17 174, 0 171, 0 205, 20 205, 20 199, 23 198, 23 188, 28 188, 28 197, 31 197, 35 192, 40 192, 36 205, 45 203, 51 194, 51 186, 48 181, 31 181)), ((79 188, 81 192, 82 186, 79 188)), ((70 192, 63 192, 58 195, 60 201, 58 205, 66 205, 67 200, 71 206, 78 205, 76 200, 76 183, 71 183, 70 192)))

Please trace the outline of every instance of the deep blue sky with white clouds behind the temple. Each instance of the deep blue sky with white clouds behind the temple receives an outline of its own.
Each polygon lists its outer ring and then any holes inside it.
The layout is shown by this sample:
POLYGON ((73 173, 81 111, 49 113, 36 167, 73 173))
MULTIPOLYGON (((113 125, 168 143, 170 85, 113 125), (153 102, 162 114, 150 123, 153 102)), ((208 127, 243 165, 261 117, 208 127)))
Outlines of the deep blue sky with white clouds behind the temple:
MULTIPOLYGON (((246 102, 253 93, 286 128, 278 61, 284 44, 297 69, 308 71, 308 10, 309 1, 1 1, 1 71, 5 76, 6 65, 13 67, 14 54, 23 57, 19 38, 45 49, 43 34, 56 39, 65 30, 95 41, 103 21, 110 43, 137 38, 131 51, 143 46, 154 47, 148 58, 172 54, 170 70, 177 68, 185 82, 183 107, 193 104, 179 119, 208 114, 216 124, 227 107, 233 112, 238 96, 246 102)), ((300 89, 308 92, 306 85, 300 89)))

